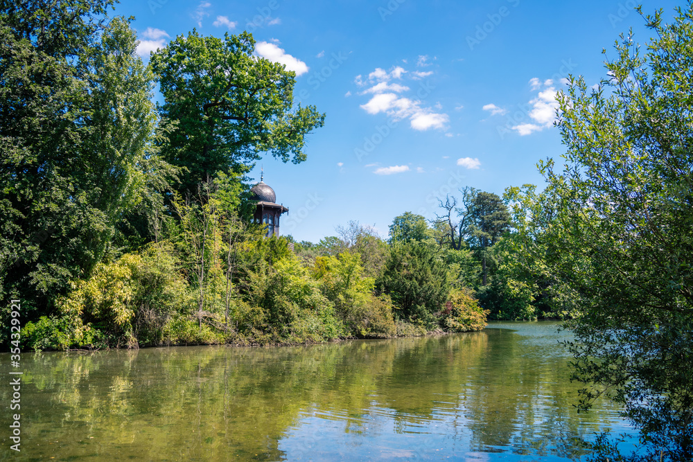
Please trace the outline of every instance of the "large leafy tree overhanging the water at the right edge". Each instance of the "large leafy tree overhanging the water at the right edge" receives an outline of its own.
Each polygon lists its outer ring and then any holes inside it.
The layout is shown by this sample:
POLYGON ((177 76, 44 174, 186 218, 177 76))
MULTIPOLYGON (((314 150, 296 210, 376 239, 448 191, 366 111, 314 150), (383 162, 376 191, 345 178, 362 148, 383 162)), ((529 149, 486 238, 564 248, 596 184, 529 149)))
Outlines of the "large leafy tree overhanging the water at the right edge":
POLYGON ((581 409, 606 395, 651 455, 690 461, 693 5, 676 11, 672 24, 645 17, 644 52, 622 35, 599 87, 571 78, 559 94, 565 166, 541 164, 546 206, 532 211, 545 213, 527 211, 520 231, 543 222, 543 260, 579 308, 568 326, 581 409))

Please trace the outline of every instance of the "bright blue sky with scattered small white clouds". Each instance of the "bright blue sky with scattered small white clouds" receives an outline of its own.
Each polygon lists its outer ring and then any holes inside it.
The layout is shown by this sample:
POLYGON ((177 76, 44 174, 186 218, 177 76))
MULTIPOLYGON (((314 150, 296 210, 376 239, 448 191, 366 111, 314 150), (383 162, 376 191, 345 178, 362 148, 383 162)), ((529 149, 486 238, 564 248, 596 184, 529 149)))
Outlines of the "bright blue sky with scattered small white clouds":
MULTIPOLYGON (((680 2, 642 0, 672 17, 680 2)), ((252 32, 256 53, 297 72, 295 100, 326 113, 308 160, 270 157, 252 175, 289 208, 281 233, 317 242, 357 220, 383 237, 405 211, 472 186, 502 195, 542 184, 539 159, 564 148, 552 127, 568 74, 593 85, 622 32, 647 42, 635 1, 487 2, 123 0, 145 59, 192 28, 252 32)), ((459 193, 457 194, 459 196, 459 193)))

